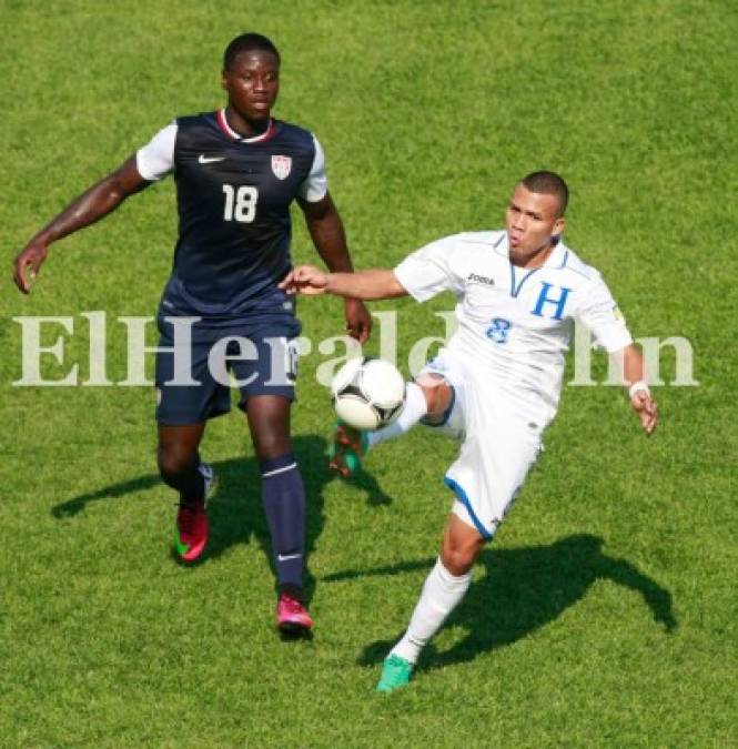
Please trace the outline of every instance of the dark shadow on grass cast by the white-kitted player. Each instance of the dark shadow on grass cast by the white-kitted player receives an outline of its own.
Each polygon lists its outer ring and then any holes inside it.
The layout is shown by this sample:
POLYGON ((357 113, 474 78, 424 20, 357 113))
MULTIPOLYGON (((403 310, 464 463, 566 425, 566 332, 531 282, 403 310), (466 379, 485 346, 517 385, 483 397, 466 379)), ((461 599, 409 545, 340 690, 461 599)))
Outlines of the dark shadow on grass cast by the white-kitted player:
MULTIPOLYGON (((677 619, 671 594, 629 561, 607 556, 601 547, 601 538, 578 534, 549 546, 486 549, 481 556, 486 576, 472 585, 446 623, 448 627, 464 628, 466 636, 445 651, 437 651, 431 645, 421 658, 419 668, 439 668, 472 660, 479 652, 516 642, 554 621, 580 600, 598 579, 611 580, 639 593, 650 608, 654 621, 663 625, 666 631, 674 630, 677 619)), ((331 581, 429 570, 434 563, 435 559, 423 559, 366 571, 337 573, 322 579, 331 581)), ((417 586, 408 589, 408 617, 418 593, 417 586)), ((358 662, 366 666, 382 661, 401 634, 392 640, 365 647, 358 662)))

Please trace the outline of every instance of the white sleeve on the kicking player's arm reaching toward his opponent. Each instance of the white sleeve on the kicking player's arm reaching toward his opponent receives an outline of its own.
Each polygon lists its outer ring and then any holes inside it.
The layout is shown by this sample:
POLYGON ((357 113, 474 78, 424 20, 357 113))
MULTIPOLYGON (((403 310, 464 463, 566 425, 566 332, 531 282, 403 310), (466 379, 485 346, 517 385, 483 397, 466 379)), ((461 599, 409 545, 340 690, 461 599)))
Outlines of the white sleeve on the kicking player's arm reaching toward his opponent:
POLYGON ((407 255, 394 273, 405 291, 416 301, 425 302, 443 291, 464 293, 465 274, 458 249, 458 234, 426 244, 407 255))

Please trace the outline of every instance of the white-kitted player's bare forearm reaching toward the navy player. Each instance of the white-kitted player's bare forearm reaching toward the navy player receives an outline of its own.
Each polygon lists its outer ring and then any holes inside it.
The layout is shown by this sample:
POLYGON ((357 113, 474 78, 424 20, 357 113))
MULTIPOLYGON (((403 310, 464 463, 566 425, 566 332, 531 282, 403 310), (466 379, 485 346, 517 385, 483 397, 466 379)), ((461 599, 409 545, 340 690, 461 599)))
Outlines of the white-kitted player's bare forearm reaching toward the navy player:
POLYGON ((392 271, 374 269, 355 273, 325 273, 313 265, 293 269, 280 284, 289 294, 335 294, 360 300, 388 300, 407 294, 392 271))

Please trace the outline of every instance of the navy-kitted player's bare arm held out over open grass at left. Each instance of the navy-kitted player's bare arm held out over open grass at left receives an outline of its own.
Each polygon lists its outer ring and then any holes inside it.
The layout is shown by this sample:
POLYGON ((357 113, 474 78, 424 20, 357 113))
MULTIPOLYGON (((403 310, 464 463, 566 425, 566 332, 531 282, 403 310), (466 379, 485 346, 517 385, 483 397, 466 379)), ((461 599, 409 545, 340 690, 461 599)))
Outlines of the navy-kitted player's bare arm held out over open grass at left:
POLYGON ((114 172, 92 185, 52 219, 16 257, 13 281, 23 294, 31 291, 31 281, 47 259, 49 245, 68 234, 89 226, 114 211, 129 195, 151 184, 144 180, 131 156, 114 172))

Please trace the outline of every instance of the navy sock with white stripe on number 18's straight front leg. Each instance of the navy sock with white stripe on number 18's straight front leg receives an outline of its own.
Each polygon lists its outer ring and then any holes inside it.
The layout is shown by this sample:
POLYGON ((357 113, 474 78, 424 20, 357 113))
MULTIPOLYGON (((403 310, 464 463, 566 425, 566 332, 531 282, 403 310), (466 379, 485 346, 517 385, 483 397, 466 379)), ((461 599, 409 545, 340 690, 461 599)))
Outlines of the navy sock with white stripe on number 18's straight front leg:
POLYGON ((292 595, 302 590, 305 566, 305 489, 292 453, 260 460, 262 502, 272 535, 276 581, 292 595))

